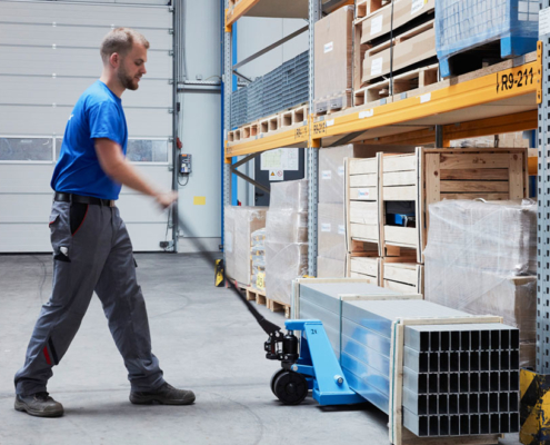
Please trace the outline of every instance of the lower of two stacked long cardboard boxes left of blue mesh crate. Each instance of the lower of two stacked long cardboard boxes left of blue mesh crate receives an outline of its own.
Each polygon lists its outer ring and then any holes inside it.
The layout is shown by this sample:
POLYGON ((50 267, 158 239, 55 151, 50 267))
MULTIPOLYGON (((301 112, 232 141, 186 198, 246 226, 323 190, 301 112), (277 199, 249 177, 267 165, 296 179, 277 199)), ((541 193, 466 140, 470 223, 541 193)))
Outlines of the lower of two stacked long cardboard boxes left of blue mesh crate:
POLYGON ((390 42, 366 52, 361 78, 363 82, 389 75, 391 68, 396 72, 437 56, 433 20, 393 40, 393 67, 391 66, 390 42))

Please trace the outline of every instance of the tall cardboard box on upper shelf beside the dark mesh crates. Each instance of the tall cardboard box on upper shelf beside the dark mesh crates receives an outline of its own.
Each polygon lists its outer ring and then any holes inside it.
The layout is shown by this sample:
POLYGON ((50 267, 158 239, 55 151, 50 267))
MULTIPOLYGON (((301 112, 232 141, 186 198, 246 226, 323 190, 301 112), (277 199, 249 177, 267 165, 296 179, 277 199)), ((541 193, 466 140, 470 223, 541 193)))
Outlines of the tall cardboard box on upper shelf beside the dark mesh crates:
POLYGON ((353 7, 348 6, 316 23, 314 100, 351 91, 353 7))

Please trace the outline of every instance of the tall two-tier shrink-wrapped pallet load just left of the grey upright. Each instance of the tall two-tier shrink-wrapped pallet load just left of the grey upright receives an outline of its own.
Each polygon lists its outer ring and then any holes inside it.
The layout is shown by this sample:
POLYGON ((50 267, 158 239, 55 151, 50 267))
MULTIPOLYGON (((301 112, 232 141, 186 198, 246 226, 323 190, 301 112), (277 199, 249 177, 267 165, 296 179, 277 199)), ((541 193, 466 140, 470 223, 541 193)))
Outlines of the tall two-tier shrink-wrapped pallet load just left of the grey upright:
POLYGON ((308 274, 307 180, 271 185, 266 231, 266 296, 290 305, 292 280, 308 274))

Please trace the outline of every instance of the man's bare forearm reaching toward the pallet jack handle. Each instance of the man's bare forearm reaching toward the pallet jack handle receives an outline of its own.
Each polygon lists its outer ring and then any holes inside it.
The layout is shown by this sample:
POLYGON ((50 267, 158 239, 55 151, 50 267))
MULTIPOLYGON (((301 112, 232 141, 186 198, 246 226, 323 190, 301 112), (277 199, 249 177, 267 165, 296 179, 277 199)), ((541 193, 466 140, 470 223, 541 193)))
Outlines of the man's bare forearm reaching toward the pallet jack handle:
POLYGON ((122 148, 117 142, 107 138, 96 139, 96 152, 98 154, 101 169, 112 180, 153 197, 163 208, 167 208, 177 199, 176 192, 161 191, 149 184, 126 159, 122 155, 122 148))

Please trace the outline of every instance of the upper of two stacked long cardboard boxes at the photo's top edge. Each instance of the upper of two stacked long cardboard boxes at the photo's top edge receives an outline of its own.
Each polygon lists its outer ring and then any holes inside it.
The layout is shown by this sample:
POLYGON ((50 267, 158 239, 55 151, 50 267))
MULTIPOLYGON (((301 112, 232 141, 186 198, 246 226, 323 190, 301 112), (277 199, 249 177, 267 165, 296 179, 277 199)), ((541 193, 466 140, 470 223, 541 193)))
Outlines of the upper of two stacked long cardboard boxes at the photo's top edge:
MULTIPOLYGON (((361 22, 361 43, 369 43, 391 31, 391 3, 370 14, 361 22)), ((394 0, 393 31, 416 18, 433 11, 436 0, 394 0)))

